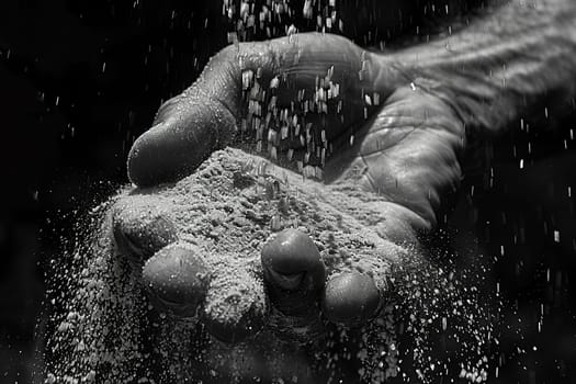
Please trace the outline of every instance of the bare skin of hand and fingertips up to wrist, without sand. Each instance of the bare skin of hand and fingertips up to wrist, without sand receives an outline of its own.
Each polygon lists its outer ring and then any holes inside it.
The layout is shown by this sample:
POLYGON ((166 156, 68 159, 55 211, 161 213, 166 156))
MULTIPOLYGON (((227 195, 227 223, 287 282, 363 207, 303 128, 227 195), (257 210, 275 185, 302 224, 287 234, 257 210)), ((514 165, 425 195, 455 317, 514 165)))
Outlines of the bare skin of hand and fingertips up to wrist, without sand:
MULTIPOLYGON (((262 87, 275 76, 287 74, 275 94, 278 105, 290 105, 300 90, 312 94, 316 79, 334 68, 332 79, 339 83, 345 112, 338 113, 329 103, 324 115, 334 153, 323 168, 325 185, 348 185, 345 190, 351 194, 379 194, 380 203, 374 210, 383 213, 385 222, 371 229, 413 258, 421 257, 414 255, 419 249, 418 236, 433 228, 441 196, 460 183, 458 156, 464 133, 453 110, 440 98, 410 87, 397 64, 364 52, 340 36, 300 34, 294 41, 241 44, 236 49, 230 46, 218 53, 190 89, 161 106, 154 127, 132 148, 131 180, 145 188, 178 180, 192 172, 212 150, 233 144, 236 124, 241 125, 245 113, 238 89, 242 71, 256 74, 262 68, 258 80, 262 87), (239 67, 238 55, 246 68, 239 67), (298 61, 294 66, 295 55, 298 61), (372 98, 379 94, 380 105, 366 105, 362 92, 372 98), (345 116, 343 123, 340 115, 345 116)), ((308 113, 306 118, 314 124, 323 117, 308 113)), ((284 154, 291 148, 302 150, 301 143, 290 142, 281 148, 280 165, 294 168, 295 160, 289 161, 284 154)), ((263 317, 261 313, 246 315, 250 318, 234 328, 214 326, 202 315, 203 300, 210 292, 197 275, 206 273, 206 266, 187 261, 193 256, 178 247, 166 247, 178 237, 167 221, 157 218, 138 225, 137 212, 126 214, 123 210, 134 208, 116 207, 117 247, 128 260, 135 253, 144 259, 144 268, 137 263, 133 268, 143 270, 142 279, 160 312, 190 317, 200 308, 200 320, 207 331, 226 342, 252 337, 259 330, 264 319, 255 317, 263 317), (133 228, 137 227, 148 229, 135 234, 133 228)), ((372 321, 389 301, 392 293, 382 286, 377 289, 370 276, 375 271, 337 273, 327 279, 319 253, 306 234, 282 231, 261 252, 269 300, 283 316, 293 318, 283 321, 286 327, 302 327, 303 312, 314 313, 318 306, 326 321, 358 328, 372 321)), ((403 262, 402 258, 396 261, 403 262)), ((262 340, 266 339, 257 337, 251 342, 267 342, 262 340)))

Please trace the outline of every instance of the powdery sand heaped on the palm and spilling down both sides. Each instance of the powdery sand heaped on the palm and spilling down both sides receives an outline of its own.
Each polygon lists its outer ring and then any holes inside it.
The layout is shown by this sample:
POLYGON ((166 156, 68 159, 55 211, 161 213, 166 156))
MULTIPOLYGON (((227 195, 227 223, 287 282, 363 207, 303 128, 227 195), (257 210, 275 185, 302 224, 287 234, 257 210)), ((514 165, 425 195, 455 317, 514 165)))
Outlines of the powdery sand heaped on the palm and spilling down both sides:
POLYGON ((485 381, 492 314, 482 312, 479 294, 450 268, 376 234, 375 223, 385 219, 375 208, 380 199, 351 185, 304 179, 230 148, 177 183, 120 191, 93 210, 86 236, 55 268, 49 296, 59 309, 47 326, 46 382, 324 383, 406 375, 430 382, 454 376, 454 370, 462 379, 485 381), (211 276, 203 315, 182 318, 153 307, 140 281, 145 260, 121 255, 113 217, 126 226, 137 223, 133 229, 140 236, 160 228, 156 238, 170 242, 168 249, 183 247, 202 260, 211 276), (166 226, 176 236, 162 238, 166 226), (387 296, 377 317, 348 329, 276 310, 267 296, 260 251, 284 228, 313 239, 328 279, 351 271, 372 276, 387 296), (247 312, 261 319, 262 329, 238 343, 214 339, 202 319, 238 324, 247 312), (437 353, 433 334, 456 355, 437 353), (398 360, 404 339, 410 340, 405 342, 410 351, 402 353, 414 360, 406 372, 398 360))

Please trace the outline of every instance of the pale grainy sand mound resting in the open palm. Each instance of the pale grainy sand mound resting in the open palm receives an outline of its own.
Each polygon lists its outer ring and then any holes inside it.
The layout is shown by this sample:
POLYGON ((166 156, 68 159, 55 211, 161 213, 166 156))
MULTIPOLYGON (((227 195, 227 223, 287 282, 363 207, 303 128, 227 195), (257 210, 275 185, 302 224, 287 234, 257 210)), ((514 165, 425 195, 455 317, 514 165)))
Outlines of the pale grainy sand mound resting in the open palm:
MULTIPOLYGON (((257 289, 261 285, 260 251, 271 236, 287 227, 310 236, 329 275, 368 273, 385 290, 391 264, 406 250, 374 231, 373 224, 385 219, 376 217, 374 199, 370 193, 351 195, 303 179, 266 159, 228 148, 176 184, 134 191, 117 205, 140 212, 143 223, 153 223, 159 215, 173 223, 178 241, 195 248, 222 294, 252 279, 255 284, 245 286, 244 297, 262 294, 257 289), (236 279, 238 273, 247 273, 244 283, 236 279)), ((143 230, 148 229, 143 226, 143 230)), ((225 297, 211 297, 208 306, 222 300, 225 297)), ((264 305, 263 297, 248 300, 264 305)))

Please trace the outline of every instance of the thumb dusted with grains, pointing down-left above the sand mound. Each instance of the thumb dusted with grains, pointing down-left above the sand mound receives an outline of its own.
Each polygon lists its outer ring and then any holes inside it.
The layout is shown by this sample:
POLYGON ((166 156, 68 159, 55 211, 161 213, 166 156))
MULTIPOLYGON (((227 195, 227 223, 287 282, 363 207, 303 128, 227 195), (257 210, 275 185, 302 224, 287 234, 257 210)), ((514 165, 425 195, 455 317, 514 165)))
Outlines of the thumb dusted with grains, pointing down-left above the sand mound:
POLYGON ((176 181, 190 174, 236 129, 239 68, 233 46, 214 55, 197 80, 163 103, 153 127, 128 154, 129 180, 138 187, 176 181))

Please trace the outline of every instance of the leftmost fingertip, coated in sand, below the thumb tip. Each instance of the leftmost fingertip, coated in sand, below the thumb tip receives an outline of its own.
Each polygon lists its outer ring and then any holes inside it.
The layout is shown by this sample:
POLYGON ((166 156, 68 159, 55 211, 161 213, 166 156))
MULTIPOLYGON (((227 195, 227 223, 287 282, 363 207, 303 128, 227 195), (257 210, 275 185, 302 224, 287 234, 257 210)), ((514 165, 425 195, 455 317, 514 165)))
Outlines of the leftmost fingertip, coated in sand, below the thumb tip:
POLYGON ((113 208, 112 230, 116 247, 136 268, 178 239, 174 225, 154 203, 126 197, 113 208))

